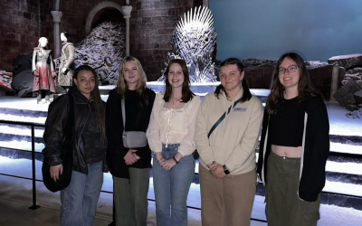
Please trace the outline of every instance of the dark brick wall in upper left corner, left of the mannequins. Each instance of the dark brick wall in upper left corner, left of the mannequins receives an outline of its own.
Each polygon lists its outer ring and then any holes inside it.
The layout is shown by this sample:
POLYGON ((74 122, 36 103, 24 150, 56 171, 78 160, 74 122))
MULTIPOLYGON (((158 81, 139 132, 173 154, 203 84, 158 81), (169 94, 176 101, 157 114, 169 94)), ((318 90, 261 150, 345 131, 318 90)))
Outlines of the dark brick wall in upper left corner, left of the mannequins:
POLYGON ((40 10, 37 0, 0 1, 0 69, 12 71, 17 55, 32 52, 40 35, 49 35, 45 27, 50 25, 51 15, 42 15, 50 6, 48 2, 44 0, 40 10))

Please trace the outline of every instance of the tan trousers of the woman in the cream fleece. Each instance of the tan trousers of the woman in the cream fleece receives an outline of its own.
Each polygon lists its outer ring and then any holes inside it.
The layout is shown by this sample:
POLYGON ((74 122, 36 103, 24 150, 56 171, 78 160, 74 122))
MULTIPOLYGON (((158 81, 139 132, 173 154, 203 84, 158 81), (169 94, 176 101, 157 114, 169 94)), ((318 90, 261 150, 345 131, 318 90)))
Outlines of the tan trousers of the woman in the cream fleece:
POLYGON ((256 172, 214 178, 199 165, 203 226, 249 226, 256 190, 256 172))

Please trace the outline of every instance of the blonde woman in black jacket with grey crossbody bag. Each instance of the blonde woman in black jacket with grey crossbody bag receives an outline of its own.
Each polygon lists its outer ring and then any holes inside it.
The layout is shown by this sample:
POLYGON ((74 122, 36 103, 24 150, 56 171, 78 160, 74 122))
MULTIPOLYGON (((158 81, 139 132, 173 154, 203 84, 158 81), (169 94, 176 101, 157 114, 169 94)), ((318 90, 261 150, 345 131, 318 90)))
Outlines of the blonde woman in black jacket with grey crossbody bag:
POLYGON ((137 149, 123 146, 121 99, 125 99, 126 131, 148 128, 155 92, 146 88, 146 74, 140 62, 128 56, 119 67, 117 88, 107 100, 106 129, 109 141, 107 162, 113 175, 116 225, 146 226, 148 217, 149 167, 148 145, 137 149))

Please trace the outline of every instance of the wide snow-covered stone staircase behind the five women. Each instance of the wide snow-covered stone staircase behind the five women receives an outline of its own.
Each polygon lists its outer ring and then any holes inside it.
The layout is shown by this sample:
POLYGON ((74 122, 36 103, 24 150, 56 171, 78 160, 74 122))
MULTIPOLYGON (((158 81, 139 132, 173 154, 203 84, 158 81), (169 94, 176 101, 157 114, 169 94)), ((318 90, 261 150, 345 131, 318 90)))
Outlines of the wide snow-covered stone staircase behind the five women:
MULTIPOLYGON (((159 85, 149 85, 151 89, 160 91, 159 85)), ((105 95, 102 99, 107 99, 107 94, 113 89, 101 89, 101 94, 105 95)), ((161 89, 162 90, 162 89, 161 89)), ((205 96, 205 93, 212 91, 210 87, 198 88, 193 90, 200 96, 205 96)), ((252 89, 254 95, 265 102, 268 95, 268 90, 252 89)), ((28 99, 33 101, 35 99, 28 99)), ((45 121, 47 116, 47 106, 35 106, 35 108, 25 108, 24 99, 11 99, 11 107, 1 104, 0 100, 0 120, 9 120, 9 118, 22 118, 24 122, 40 123, 45 121), (19 103, 16 104, 16 101, 19 103), (39 107, 39 108, 37 108, 39 107)), ((9 105, 9 104, 8 104, 9 105)), ((35 104, 36 105, 36 104, 35 104)), ((328 105, 329 106, 329 105, 328 105)), ((329 116, 330 117, 330 116, 329 116)), ((10 119, 12 120, 12 119, 10 119)), ((329 118, 329 123, 332 126, 335 122, 329 118)), ((360 123, 354 121, 352 123, 360 123)), ((362 124, 361 124, 362 125, 362 124)), ((35 127, 35 158, 43 161, 41 151, 43 149, 43 127, 35 127)), ((28 126, 0 123, 0 155, 9 158, 25 158, 31 159, 30 152, 21 152, 15 148, 31 150, 31 130, 28 126)), ((340 207, 352 207, 357 210, 362 210, 362 137, 346 136, 346 135, 330 135, 331 150, 327 164, 327 181, 326 186, 321 194, 321 202, 329 205, 337 205, 340 207)), ((1 164, 0 164, 1 165, 1 164)), ((197 166, 196 166, 197 167, 197 166)), ((198 172, 198 169, 195 169, 198 172)), ((1 172, 0 172, 1 173, 1 172)), ((152 173, 151 173, 152 175, 152 173)), ((198 175, 195 174, 194 183, 199 184, 198 175)), ((257 195, 263 196, 264 189, 262 184, 257 187, 257 195)))

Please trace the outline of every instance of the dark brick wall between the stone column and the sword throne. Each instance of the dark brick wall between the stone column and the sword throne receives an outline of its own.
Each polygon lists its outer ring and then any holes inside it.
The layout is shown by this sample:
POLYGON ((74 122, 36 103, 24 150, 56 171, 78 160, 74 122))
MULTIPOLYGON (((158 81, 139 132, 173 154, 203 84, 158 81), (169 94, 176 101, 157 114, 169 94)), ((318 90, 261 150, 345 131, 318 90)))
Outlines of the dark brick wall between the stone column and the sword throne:
POLYGON ((130 54, 142 63, 148 80, 157 80, 171 52, 172 33, 180 17, 193 7, 192 0, 131 1, 130 54))

